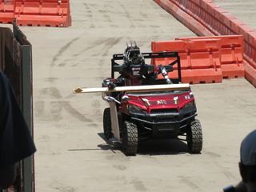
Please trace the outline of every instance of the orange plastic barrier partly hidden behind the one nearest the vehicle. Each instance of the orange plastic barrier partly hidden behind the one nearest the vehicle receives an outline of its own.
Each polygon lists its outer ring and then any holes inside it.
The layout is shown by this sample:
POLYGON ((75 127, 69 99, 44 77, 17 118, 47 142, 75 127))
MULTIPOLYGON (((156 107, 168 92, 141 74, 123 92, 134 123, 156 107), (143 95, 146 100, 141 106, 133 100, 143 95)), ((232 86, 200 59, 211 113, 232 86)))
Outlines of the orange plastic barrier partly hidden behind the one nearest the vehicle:
POLYGON ((190 41, 191 39, 220 39, 221 65, 223 78, 242 78, 245 76, 243 66, 243 38, 242 35, 176 38, 177 40, 190 41))

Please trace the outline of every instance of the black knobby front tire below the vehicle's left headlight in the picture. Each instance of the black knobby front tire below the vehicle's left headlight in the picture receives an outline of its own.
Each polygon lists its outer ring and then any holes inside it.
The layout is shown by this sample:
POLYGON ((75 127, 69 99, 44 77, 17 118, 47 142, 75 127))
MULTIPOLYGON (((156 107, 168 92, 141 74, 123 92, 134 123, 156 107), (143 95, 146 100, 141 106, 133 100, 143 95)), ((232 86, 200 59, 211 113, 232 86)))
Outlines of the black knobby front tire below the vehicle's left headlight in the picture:
POLYGON ((138 150, 138 128, 133 122, 124 122, 122 125, 122 152, 126 155, 135 155, 138 150))

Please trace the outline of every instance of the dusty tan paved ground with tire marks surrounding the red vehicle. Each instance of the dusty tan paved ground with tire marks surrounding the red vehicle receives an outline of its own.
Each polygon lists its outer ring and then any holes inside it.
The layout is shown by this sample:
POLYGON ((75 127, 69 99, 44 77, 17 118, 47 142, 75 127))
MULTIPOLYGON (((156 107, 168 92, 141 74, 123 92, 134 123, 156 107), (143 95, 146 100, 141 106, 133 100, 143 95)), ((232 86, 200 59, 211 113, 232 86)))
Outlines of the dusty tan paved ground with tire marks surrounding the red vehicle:
POLYGON ((192 86, 202 122, 202 154, 178 141, 144 142, 126 157, 102 138, 98 94, 110 58, 126 41, 150 51, 153 40, 194 36, 150 0, 71 1, 72 27, 22 27, 33 45, 37 192, 220 191, 238 182, 239 144, 255 128, 256 90, 244 79, 192 86))

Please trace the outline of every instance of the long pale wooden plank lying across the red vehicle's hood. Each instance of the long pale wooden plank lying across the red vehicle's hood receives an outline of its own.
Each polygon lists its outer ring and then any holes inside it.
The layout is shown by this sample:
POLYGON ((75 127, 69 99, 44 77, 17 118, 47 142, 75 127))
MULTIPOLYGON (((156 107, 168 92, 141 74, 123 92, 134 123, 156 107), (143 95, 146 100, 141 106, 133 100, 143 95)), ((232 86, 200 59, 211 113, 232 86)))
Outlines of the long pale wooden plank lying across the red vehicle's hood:
POLYGON ((117 86, 114 90, 109 90, 107 87, 97 88, 77 88, 73 90, 74 94, 88 94, 98 92, 147 92, 147 91, 159 91, 159 90, 187 90, 190 88, 190 84, 166 84, 166 85, 154 85, 154 86, 117 86))

